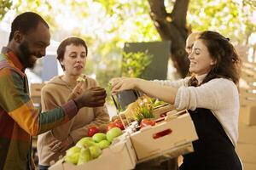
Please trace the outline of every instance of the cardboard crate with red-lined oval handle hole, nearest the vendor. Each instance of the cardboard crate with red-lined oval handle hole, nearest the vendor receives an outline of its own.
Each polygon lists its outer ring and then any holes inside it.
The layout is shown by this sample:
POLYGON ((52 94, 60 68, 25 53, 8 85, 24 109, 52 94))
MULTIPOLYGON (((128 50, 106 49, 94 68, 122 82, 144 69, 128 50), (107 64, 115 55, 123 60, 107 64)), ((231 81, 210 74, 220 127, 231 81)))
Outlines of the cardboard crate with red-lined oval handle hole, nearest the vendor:
POLYGON ((143 127, 136 133, 131 133, 131 142, 138 160, 147 160, 149 157, 163 154, 166 150, 172 150, 198 139, 188 111, 180 111, 180 113, 181 116, 176 118, 170 116, 170 119, 154 127, 143 127))

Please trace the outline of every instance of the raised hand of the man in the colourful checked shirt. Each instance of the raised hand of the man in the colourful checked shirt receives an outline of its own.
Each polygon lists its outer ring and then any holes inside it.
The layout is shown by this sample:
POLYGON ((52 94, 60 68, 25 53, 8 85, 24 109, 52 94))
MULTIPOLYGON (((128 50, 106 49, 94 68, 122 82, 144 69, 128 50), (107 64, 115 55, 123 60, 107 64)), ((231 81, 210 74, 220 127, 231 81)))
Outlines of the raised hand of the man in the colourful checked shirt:
POLYGON ((106 91, 104 88, 95 87, 85 90, 79 97, 73 99, 78 106, 82 107, 98 107, 105 104, 106 91))

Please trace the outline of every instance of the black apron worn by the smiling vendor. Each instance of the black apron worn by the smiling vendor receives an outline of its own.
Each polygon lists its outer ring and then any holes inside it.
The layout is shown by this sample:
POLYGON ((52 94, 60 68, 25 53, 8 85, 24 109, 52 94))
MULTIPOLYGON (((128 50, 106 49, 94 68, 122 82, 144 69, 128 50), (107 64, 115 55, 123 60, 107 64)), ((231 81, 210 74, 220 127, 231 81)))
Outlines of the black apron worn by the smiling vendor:
POLYGON ((224 128, 210 110, 189 111, 198 140, 195 152, 183 156, 181 170, 241 170, 241 162, 224 128))

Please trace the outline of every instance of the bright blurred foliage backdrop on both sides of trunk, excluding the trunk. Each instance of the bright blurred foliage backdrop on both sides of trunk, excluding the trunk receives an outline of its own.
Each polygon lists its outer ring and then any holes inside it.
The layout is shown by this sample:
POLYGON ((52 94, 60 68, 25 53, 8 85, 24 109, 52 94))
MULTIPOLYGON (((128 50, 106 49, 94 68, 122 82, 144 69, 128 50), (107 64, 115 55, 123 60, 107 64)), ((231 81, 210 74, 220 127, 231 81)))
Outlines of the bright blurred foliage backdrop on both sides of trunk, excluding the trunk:
MULTIPOLYGON (((1 47, 7 44, 10 23, 15 15, 35 11, 49 22, 52 40, 47 53, 55 54, 59 42, 65 37, 83 37, 89 47, 89 61, 84 72, 96 78, 103 87, 107 87, 110 78, 120 76, 121 52, 125 42, 161 41, 150 18, 150 8, 146 0, 1 2, 1 47)), ((174 2, 165 1, 167 12, 172 12, 174 2)), ((248 59, 256 61, 255 6, 253 0, 191 0, 187 25, 190 31, 219 31, 230 37, 235 45, 248 49, 248 59)), ((169 74, 173 71, 175 69, 171 62, 169 74)), ((32 72, 39 74, 40 62, 32 72)))

